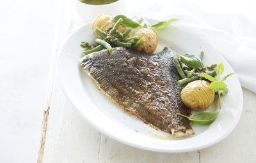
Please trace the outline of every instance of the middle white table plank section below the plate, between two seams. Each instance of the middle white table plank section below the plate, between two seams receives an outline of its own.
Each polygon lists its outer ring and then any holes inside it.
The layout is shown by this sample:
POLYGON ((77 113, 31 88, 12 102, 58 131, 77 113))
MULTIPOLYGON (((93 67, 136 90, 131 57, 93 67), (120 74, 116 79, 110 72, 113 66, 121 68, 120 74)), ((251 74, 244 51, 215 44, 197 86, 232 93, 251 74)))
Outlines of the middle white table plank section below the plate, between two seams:
POLYGON ((102 134, 100 162, 198 162, 198 151, 188 153, 159 153, 124 145, 102 134))

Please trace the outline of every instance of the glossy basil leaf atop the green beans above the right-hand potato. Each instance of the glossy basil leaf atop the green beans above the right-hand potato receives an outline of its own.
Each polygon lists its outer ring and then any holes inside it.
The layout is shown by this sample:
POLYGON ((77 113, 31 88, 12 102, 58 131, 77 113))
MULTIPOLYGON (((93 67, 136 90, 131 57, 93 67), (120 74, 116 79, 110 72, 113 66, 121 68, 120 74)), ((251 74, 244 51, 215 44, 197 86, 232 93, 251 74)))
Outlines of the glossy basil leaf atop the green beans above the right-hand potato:
POLYGON ((192 68, 192 69, 202 69, 204 66, 202 64, 202 60, 195 55, 190 54, 184 54, 180 55, 180 60, 183 62, 186 66, 192 68))

